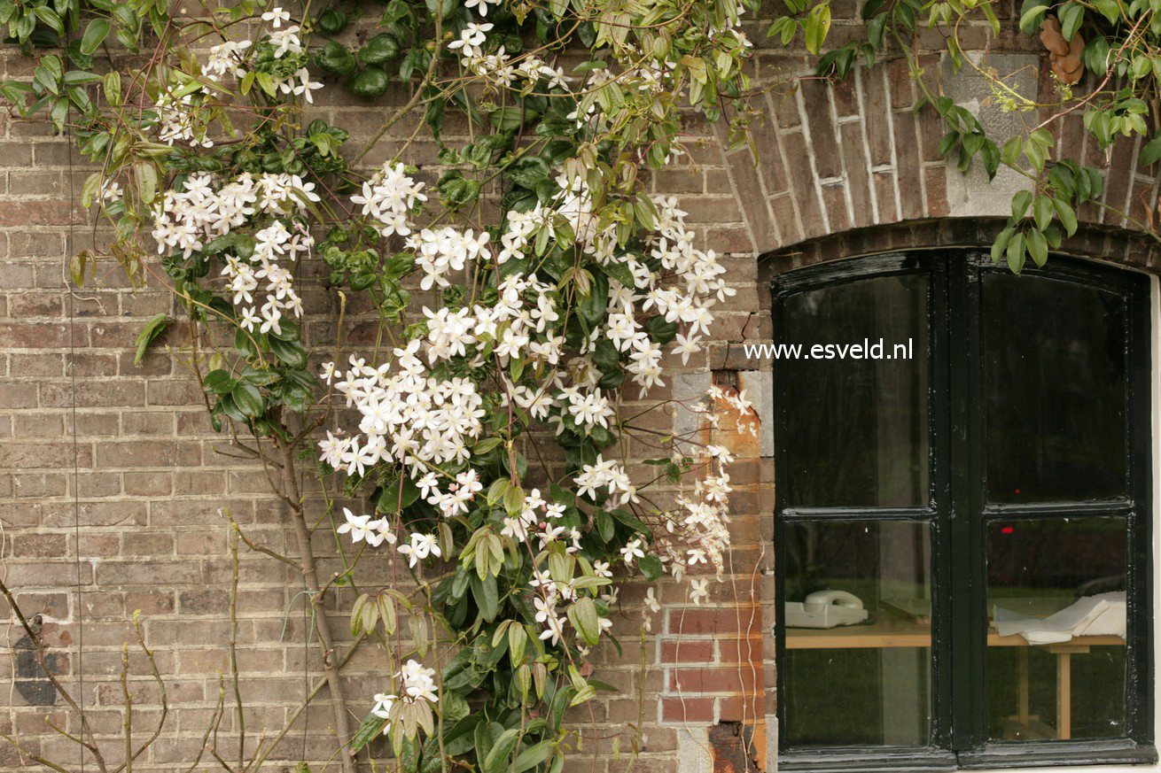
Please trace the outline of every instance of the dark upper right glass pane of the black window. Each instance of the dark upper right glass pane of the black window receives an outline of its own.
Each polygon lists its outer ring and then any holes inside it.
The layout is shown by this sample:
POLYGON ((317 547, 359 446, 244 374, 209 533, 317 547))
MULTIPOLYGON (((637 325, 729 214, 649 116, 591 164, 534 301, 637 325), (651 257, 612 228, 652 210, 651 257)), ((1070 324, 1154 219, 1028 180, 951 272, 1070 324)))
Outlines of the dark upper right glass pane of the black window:
POLYGON ((1125 492, 1125 304, 1011 274, 983 277, 988 498, 1125 492))

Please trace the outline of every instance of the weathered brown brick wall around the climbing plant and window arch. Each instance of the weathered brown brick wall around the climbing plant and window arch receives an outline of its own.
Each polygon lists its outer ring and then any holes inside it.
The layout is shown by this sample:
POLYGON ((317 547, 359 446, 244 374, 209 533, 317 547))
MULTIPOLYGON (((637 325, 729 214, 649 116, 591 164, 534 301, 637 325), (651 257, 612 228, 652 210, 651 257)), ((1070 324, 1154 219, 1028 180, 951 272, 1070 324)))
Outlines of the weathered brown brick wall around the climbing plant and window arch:
MULTIPOLYGON (((835 5, 836 43, 857 29, 854 10, 853 2, 835 5)), ((1011 8, 1003 17, 1010 20, 1011 8)), ((767 24, 756 22, 751 39, 764 41, 767 24)), ((979 28, 967 36, 976 49, 988 43, 979 28)), ((951 73, 935 55, 937 44, 925 42, 930 82, 945 84, 965 102, 974 100, 981 121, 1002 130, 1003 117, 986 104, 986 94, 981 99, 979 81, 951 73)), ((684 587, 659 584, 665 608, 644 637, 639 605, 646 588, 626 590, 616 619, 623 655, 606 648, 594 664, 598 678, 621 692, 592 703, 597 727, 585 728, 591 737, 577 757, 578 770, 623 770, 633 735, 627 723, 640 723, 639 772, 715 765, 742 771, 750 766, 747 759, 773 770, 774 746, 767 751, 766 744, 777 732, 771 373, 769 362, 747 360, 740 344, 772 334, 765 287, 773 272, 897 247, 986 244, 1018 183, 1002 176, 988 187, 979 172, 962 178, 938 158, 943 130, 930 110, 913 113, 917 89, 902 62, 859 71, 846 84, 803 79, 792 89, 786 80, 809 74, 807 59, 760 45, 758 82, 783 85, 758 97, 767 116, 757 128, 759 162, 744 150, 723 152, 720 128, 691 116, 688 157, 652 179, 657 193, 680 198, 704 245, 727 255, 737 288, 720 309, 708 352, 691 357, 687 367, 666 362, 671 377, 662 396, 688 398, 714 380, 747 389, 764 421, 759 438, 730 440, 738 461, 730 470, 736 491, 728 575, 700 607, 687 605, 684 587), (741 741, 738 727, 729 723, 744 727, 741 741), (620 758, 613 754, 614 738, 620 758)), ((1034 41, 1005 31, 989 45, 993 56, 1004 51, 1014 62, 1031 64, 1029 72, 1045 70, 1034 41)), ((3 67, 5 77, 29 74, 15 51, 5 52, 3 67)), ((1034 77, 1027 86, 1048 88, 1034 77)), ((382 120, 380 108, 359 104, 339 89, 324 94, 319 115, 351 129, 355 146, 382 120)), ((392 94, 398 102, 405 99, 402 89, 392 94)), ((1153 201, 1156 192, 1154 179, 1135 169, 1137 144, 1123 143, 1105 158, 1083 138, 1076 116, 1052 128, 1061 150, 1080 147, 1089 162, 1111 169, 1105 202, 1140 217, 1139 202, 1153 201)), ((410 133, 410 127, 399 132, 410 133)), ((448 144, 462 144, 454 133, 449 130, 448 144)), ((387 138, 366 161, 382 161, 401 142, 387 138)), ((293 554, 294 540, 261 468, 222 453, 226 439, 214 433, 188 374, 174 360, 187 342, 180 326, 163 341, 173 354, 158 347, 140 366, 132 363, 137 332, 154 313, 173 310, 170 296, 152 280, 130 289, 109 260, 95 284, 70 287, 68 255, 103 239, 77 203, 87 171, 68 147, 41 124, 9 116, 0 121, 0 576, 27 613, 42 615, 55 667, 84 701, 95 731, 108 739, 118 737, 121 722, 122 642, 131 640, 128 620, 140 611, 167 685, 170 714, 160 741, 137 767, 183 770, 199 754, 216 711, 219 672, 226 670, 231 562, 229 525, 219 511, 229 510, 248 537, 274 550, 293 554)), ((434 143, 419 142, 409 158, 433 178, 437 151, 434 143)), ((1103 226, 1125 225, 1120 216, 1091 207, 1081 216, 1103 226)), ((1087 230, 1067 247, 1156 265, 1148 246, 1104 233, 1087 230)), ((337 309, 333 295, 322 289, 312 290, 308 303, 331 315, 337 309)), ((361 330, 353 326, 349 347, 367 342, 361 330)), ((310 332, 315 342, 325 344, 333 325, 310 332)), ((654 420, 658 426, 672 421, 654 420)), ((331 556, 324 562, 329 576, 339 564, 325 529, 316 535, 316 549, 331 556)), ((368 563, 359 580, 382 583, 378 572, 368 563)), ((251 743, 264 728, 276 732, 319 678, 317 652, 305 643, 301 592, 302 579, 290 568, 243 549, 237 641, 251 743)), ((351 600, 348 591, 340 591, 338 607, 351 600)), ((74 764, 75 745, 48 730, 44 714, 73 734, 78 718, 21 657, 21 648, 27 650, 21 631, 9 624, 6 637, 16 657, 6 656, 0 666, 0 684, 12 677, 2 693, 0 730, 16 732, 36 753, 74 764)), ((346 684, 358 710, 381 689, 375 674, 383 667, 374 648, 353 657, 346 684)), ((130 656, 130 684, 139 727, 152 728, 159 695, 137 655, 130 656)), ((229 706, 221 724, 223 749, 235 747, 226 738, 238 727, 229 706)), ((268 768, 326 758, 333 751, 331 724, 329 706, 312 705, 268 768)), ((110 759, 120 754, 116 746, 107 749, 110 759)), ((21 763, 0 745, 0 767, 21 763)))

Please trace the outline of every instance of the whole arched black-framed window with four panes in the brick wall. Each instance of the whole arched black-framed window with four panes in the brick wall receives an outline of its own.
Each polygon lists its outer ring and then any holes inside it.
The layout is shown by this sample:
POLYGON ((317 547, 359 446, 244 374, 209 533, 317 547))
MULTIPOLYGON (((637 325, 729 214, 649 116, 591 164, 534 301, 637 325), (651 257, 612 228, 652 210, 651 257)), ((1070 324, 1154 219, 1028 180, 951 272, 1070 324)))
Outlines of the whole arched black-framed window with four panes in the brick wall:
POLYGON ((1148 279, 945 250, 773 298, 781 770, 1155 760, 1148 279))

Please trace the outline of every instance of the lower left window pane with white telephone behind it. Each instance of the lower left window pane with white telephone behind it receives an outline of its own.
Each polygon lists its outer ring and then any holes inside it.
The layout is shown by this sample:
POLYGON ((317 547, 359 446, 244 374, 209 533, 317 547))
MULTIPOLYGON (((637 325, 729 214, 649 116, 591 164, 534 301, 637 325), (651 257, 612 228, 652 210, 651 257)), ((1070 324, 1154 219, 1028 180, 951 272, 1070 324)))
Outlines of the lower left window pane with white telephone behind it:
POLYGON ((786 743, 793 747, 926 744, 931 732, 928 525, 792 522, 783 539, 786 659, 779 667, 786 673, 781 727, 786 743))

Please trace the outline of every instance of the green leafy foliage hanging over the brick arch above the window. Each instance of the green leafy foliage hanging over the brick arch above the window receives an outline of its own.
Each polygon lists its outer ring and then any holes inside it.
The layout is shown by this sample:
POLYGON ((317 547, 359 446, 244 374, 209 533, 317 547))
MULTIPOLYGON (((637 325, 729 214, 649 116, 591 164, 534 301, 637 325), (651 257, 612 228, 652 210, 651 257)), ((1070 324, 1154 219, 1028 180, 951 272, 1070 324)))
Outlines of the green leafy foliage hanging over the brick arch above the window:
MULTIPOLYGON (((922 92, 915 109, 932 110, 943 120, 946 133, 938 146, 940 157, 965 173, 979 164, 988 180, 1001 167, 1027 180, 1029 188, 1014 195, 1012 216, 991 251, 993 259, 1007 262, 1012 272, 1019 273, 1030 259, 1043 266, 1047 252, 1076 231, 1080 205, 1112 209, 1099 201, 1104 186, 1099 169, 1074 156, 1080 149, 1055 150, 1052 130, 1059 129, 1063 116, 1079 111, 1091 143, 1102 151, 1122 137, 1140 137, 1138 164, 1146 168, 1161 159, 1159 2, 1023 0, 1015 23, 1023 34, 1038 37, 1050 53, 1055 92, 1047 103, 1019 93, 1009 78, 988 67, 986 57, 965 55, 960 34, 973 22, 986 26, 993 37, 1001 34, 996 3, 988 0, 867 0, 860 8, 861 34, 830 50, 825 46, 829 0, 784 0, 783 5, 785 13, 773 21, 769 36, 791 45, 801 32, 807 50, 817 56, 819 75, 844 79, 856 67, 872 67, 884 56, 901 53, 922 92), (940 34, 954 70, 974 68, 988 81, 994 103, 1019 114, 1023 131, 989 136, 972 113, 937 91, 937 79, 924 72, 916 49, 925 30, 940 34), (1084 73, 1089 79, 1081 87, 1076 84, 1084 73)), ((1158 202, 1118 214, 1153 233, 1158 202)))

